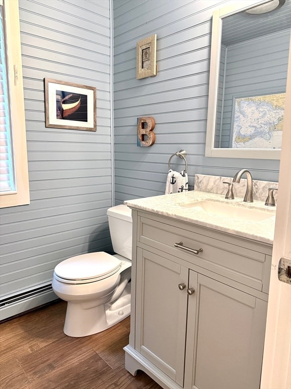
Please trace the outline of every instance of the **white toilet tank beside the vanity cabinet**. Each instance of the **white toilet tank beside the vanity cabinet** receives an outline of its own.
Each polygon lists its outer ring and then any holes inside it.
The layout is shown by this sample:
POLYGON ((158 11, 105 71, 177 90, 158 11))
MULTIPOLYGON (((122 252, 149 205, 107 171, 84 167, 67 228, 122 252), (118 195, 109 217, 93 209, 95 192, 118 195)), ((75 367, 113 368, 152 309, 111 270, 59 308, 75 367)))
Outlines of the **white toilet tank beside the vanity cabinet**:
POLYGON ((131 260, 131 209, 124 204, 116 205, 107 210, 107 215, 114 252, 131 260))

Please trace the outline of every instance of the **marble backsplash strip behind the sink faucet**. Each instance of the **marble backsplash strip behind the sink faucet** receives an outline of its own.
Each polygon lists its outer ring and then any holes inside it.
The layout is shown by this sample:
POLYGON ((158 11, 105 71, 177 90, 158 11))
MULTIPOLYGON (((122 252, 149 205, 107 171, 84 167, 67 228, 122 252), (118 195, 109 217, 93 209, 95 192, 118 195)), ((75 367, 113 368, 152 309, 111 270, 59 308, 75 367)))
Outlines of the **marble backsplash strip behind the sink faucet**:
MULTIPOLYGON (((227 185, 223 181, 232 182, 233 177, 208 176, 204 174, 195 174, 194 190, 202 192, 217 193, 218 195, 225 195, 227 192, 227 185)), ((268 189, 277 188, 278 182, 258 181, 253 180, 253 196, 254 200, 266 201, 268 196, 268 189)), ((247 180, 241 178, 239 183, 233 184, 234 197, 244 198, 247 189, 247 180)), ((277 201, 277 190, 274 190, 274 198, 277 201)))

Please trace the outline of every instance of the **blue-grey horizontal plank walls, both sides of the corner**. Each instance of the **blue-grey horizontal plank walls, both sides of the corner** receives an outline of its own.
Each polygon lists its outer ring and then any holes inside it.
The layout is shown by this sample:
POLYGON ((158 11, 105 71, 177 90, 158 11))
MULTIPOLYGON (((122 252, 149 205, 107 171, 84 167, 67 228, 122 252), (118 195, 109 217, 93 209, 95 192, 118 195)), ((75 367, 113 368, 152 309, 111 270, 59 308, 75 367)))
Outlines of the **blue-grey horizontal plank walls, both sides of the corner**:
MULTIPOLYGON (((241 167, 277 180, 279 162, 204 157, 211 18, 228 3, 113 0, 117 204, 162 194, 169 157, 180 148, 190 187, 195 173, 232 176, 241 167), (158 75, 136 80, 136 42, 154 33, 158 75), (148 148, 136 146, 143 115, 157 122, 148 148)), ((110 1, 20 0, 20 19, 31 204, 1 210, 3 298, 50 284, 65 258, 111 249, 110 1), (44 77, 97 88, 96 133, 45 128, 44 77)))

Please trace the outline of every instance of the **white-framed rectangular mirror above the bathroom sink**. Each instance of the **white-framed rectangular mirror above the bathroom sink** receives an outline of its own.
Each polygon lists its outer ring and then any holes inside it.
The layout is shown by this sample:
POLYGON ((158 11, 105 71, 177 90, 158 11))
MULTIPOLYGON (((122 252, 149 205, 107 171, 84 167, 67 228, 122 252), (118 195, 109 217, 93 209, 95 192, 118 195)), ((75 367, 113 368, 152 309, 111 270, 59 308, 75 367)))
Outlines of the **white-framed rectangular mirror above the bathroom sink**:
POLYGON ((205 155, 278 160, 291 0, 246 3, 213 13, 205 155))

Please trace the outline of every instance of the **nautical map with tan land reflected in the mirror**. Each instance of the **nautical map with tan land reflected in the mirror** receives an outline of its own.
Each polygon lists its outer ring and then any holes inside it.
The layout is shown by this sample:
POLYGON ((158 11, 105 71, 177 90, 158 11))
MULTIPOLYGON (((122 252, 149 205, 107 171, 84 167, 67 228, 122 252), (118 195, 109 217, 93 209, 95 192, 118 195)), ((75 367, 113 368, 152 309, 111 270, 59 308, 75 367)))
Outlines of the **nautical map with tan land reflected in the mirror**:
POLYGON ((232 148, 280 149, 285 93, 233 98, 232 148))

